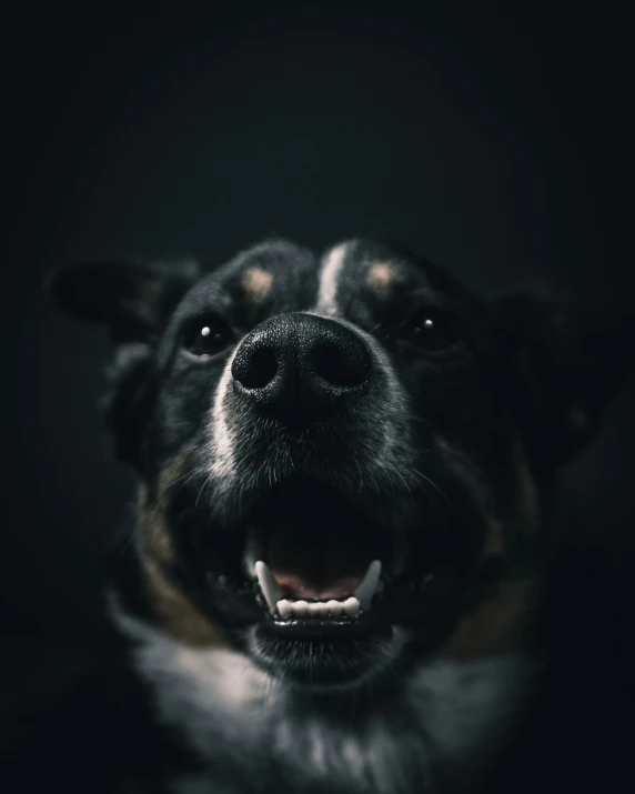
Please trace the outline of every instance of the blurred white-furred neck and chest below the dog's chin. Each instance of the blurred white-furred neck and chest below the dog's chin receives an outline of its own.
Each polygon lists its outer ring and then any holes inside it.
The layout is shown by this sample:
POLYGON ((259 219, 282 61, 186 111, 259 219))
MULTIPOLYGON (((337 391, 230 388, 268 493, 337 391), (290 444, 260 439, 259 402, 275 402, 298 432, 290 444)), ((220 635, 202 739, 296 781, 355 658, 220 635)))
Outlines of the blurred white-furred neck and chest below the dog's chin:
MULTIPOLYGON (((310 696, 243 654, 194 649, 114 607, 162 722, 179 730, 229 792, 377 792, 441 781, 470 787, 518 718, 535 664, 520 656, 439 659, 395 682, 390 698, 310 696)), ((426 788, 427 786, 427 788, 426 788)))

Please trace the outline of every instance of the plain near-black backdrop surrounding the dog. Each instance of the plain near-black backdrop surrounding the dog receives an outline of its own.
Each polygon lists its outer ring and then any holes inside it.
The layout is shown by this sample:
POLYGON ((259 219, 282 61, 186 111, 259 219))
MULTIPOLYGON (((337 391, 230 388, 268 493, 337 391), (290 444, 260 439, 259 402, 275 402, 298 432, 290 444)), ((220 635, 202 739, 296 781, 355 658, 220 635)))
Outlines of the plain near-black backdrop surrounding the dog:
MULTIPOLYGON (((8 20, 3 53, 2 680, 22 715, 99 657, 104 550, 133 494, 99 425, 105 334, 46 304, 53 267, 181 253, 213 267, 271 233, 319 248, 372 233, 485 292, 633 297, 617 6, 28 13, 8 20)), ((634 391, 565 473, 550 614, 563 667, 583 672, 565 676, 561 717, 579 713, 581 686, 585 702, 599 681, 621 700, 634 391)), ((584 713, 595 736, 614 724, 584 713)))

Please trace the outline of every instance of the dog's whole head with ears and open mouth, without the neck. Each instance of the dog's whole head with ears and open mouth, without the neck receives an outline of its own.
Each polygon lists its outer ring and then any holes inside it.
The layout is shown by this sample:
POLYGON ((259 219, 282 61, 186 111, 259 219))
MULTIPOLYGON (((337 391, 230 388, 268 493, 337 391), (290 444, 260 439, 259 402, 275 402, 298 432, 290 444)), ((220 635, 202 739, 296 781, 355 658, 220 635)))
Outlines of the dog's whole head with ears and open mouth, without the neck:
POLYGON ((117 345, 107 416, 167 631, 315 686, 510 640, 555 469, 623 374, 606 336, 365 240, 50 287, 117 345))

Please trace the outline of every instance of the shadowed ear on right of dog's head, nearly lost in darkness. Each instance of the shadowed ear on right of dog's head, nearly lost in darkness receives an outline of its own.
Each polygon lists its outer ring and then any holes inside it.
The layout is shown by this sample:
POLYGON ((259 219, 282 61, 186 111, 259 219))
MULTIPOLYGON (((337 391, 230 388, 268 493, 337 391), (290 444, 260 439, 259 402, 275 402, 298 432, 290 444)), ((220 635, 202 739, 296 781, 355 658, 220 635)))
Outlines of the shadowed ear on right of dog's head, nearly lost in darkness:
POLYGON ((548 476, 589 441, 604 409, 635 375, 635 310, 534 295, 498 298, 494 305, 508 406, 536 472, 548 476))

